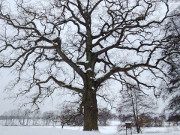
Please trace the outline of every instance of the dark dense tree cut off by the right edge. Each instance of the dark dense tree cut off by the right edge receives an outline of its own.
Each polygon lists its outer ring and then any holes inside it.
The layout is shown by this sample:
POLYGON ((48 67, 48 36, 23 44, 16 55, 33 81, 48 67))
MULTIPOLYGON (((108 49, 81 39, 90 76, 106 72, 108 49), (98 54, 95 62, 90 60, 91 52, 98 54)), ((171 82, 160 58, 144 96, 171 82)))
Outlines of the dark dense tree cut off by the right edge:
MULTIPOLYGON (((163 55, 166 56, 166 64, 168 65, 169 87, 168 96, 169 104, 167 109, 170 115, 178 115, 180 113, 180 6, 174 9, 165 25, 166 32, 166 48, 163 55)), ((166 96, 167 97, 167 96, 166 96)))

